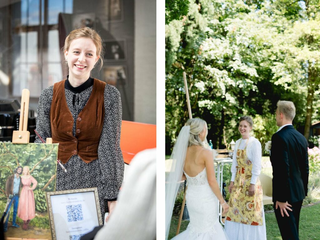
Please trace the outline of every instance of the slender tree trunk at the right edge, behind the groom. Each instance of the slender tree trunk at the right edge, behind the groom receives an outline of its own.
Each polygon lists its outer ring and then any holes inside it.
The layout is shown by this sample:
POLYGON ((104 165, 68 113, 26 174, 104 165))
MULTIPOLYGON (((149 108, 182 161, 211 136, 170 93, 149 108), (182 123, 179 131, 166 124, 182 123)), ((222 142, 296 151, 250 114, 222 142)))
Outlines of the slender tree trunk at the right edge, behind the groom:
POLYGON ((310 125, 311 125, 311 116, 312 116, 312 103, 313 96, 315 92, 315 78, 316 78, 316 69, 310 68, 308 70, 308 96, 307 96, 307 111, 306 111, 306 122, 304 125, 304 137, 308 140, 310 135, 310 125))

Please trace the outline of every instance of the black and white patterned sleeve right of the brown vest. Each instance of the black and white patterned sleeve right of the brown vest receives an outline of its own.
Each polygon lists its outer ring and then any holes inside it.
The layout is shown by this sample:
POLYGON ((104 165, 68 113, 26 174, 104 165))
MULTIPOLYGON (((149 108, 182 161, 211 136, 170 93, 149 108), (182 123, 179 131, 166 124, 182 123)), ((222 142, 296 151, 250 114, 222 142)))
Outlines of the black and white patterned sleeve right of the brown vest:
POLYGON ((101 132, 98 157, 102 172, 102 184, 106 188, 106 200, 118 197, 124 176, 124 160, 120 149, 122 105, 119 91, 106 84, 104 90, 104 123, 101 132))

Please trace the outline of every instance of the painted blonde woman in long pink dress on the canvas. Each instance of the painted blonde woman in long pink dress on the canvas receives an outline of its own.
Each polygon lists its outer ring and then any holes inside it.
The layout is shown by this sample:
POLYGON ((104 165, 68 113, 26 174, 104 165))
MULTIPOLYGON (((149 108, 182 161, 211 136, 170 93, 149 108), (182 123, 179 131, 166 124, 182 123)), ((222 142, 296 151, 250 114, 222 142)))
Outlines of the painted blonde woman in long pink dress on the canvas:
POLYGON ((30 175, 30 169, 28 166, 23 168, 21 183, 22 190, 20 193, 18 217, 23 220, 22 229, 27 230, 30 220, 36 216, 35 197, 33 195, 33 190, 36 188, 38 183, 30 175))

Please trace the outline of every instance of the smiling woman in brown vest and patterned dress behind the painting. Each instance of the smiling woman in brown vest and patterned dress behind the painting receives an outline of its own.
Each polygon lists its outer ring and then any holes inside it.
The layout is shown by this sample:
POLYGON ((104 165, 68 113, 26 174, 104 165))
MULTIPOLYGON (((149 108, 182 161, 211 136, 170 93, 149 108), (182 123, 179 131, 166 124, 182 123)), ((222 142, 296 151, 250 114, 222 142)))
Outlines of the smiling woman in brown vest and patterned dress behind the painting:
POLYGON ((67 172, 57 166, 56 191, 96 187, 103 221, 105 212, 109 217, 113 211, 124 175, 120 93, 90 77, 103 56, 101 38, 92 28, 73 30, 64 56, 69 75, 42 91, 36 130, 59 143, 58 158, 67 172))

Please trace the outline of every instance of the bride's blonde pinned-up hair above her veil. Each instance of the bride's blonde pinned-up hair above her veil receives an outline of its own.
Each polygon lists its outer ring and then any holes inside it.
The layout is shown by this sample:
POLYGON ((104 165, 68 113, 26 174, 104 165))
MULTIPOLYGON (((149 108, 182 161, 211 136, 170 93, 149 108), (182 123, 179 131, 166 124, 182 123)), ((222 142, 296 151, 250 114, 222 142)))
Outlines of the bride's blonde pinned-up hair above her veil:
MULTIPOLYGON (((204 147, 202 141, 200 140, 199 134, 203 131, 203 128, 206 124, 207 123, 201 118, 188 119, 186 123, 186 126, 190 126, 188 146, 199 145, 204 147)), ((208 130, 205 133, 205 137, 207 137, 207 134, 208 130)))

